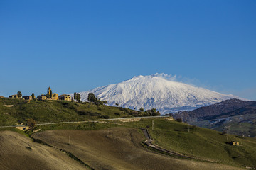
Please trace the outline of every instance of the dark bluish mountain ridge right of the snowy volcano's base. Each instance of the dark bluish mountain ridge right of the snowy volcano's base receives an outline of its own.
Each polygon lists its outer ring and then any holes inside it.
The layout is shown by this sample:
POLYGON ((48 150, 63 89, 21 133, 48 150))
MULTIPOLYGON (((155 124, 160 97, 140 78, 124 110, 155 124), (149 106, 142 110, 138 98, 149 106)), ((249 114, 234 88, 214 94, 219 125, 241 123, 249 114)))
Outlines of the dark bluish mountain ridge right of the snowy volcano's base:
POLYGON ((256 101, 233 98, 193 111, 182 111, 173 116, 203 128, 234 135, 256 136, 256 101))

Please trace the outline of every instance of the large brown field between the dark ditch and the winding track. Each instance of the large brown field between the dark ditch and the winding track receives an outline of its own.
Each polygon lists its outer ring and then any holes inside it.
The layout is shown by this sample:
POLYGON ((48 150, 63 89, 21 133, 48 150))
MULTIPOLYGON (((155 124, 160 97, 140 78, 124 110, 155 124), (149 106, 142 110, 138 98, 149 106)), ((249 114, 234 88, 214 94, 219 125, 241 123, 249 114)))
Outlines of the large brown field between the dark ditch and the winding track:
POLYGON ((32 137, 71 152, 93 169, 238 169, 151 152, 141 145, 142 133, 131 128, 47 130, 32 137))

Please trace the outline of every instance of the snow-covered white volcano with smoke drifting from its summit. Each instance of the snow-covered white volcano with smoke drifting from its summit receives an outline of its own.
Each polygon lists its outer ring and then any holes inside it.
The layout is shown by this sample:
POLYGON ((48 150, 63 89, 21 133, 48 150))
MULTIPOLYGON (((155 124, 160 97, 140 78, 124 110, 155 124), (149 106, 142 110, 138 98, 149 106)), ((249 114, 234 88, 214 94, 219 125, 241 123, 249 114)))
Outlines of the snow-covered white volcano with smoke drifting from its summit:
POLYGON ((110 106, 115 106, 115 103, 118 103, 124 108, 136 108, 137 110, 139 108, 145 110, 156 108, 161 114, 189 111, 229 98, 238 98, 171 81, 165 79, 162 74, 137 76, 118 84, 80 92, 82 101, 87 101, 88 93, 94 93, 101 101, 107 101, 110 106))

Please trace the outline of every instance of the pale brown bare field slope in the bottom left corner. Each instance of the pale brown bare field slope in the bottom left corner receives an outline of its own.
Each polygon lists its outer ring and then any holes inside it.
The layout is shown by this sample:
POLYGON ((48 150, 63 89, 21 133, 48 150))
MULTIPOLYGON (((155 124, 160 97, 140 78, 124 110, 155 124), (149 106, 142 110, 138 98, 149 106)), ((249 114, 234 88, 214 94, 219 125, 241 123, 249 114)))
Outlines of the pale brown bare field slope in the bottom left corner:
POLYGON ((0 169, 87 169, 53 147, 41 145, 25 135, 0 131, 0 169))

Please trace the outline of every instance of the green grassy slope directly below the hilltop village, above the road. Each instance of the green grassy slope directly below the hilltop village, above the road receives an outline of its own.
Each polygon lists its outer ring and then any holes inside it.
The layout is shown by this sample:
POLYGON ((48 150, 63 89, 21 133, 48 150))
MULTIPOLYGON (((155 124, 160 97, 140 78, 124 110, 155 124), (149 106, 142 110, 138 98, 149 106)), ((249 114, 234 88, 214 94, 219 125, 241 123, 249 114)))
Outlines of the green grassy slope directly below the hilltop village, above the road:
POLYGON ((17 98, 0 98, 0 125, 26 123, 28 118, 33 118, 36 123, 52 123, 143 115, 147 113, 95 103, 71 101, 31 101, 28 103, 17 98))

